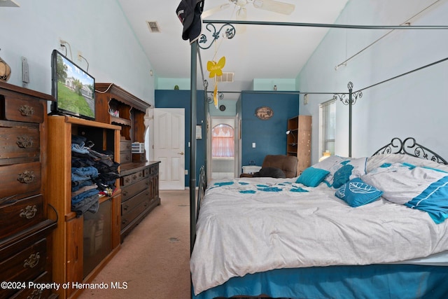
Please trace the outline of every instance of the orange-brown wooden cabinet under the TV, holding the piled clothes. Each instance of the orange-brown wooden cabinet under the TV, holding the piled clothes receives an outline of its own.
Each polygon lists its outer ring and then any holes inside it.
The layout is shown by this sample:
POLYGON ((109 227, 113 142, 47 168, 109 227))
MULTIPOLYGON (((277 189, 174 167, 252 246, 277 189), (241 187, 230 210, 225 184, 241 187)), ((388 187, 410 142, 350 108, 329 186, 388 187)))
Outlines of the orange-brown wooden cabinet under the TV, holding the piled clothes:
MULTIPOLYGON (((99 212, 87 212, 80 217, 71 211, 71 136, 84 136, 94 141, 93 149, 113 151, 119 161, 120 127, 69 116, 48 116, 48 201, 55 208, 59 219, 54 232, 54 281, 60 284, 89 282, 112 258, 120 247, 120 182, 116 180, 116 191, 112 197, 100 197, 99 212), (92 256, 88 245, 92 242, 90 232, 94 230, 87 219, 104 217, 104 241, 106 251, 92 256), (91 214, 91 215, 90 215, 91 214), (87 223, 87 224, 85 224, 87 223), (90 242, 90 243, 89 243, 90 242), (89 244, 87 244, 89 243, 89 244), (94 265, 90 264, 94 260, 94 265), (86 271, 88 269, 88 271, 86 271)), ((103 221, 103 220, 102 220, 103 221)), ((97 221, 98 222, 98 221, 97 221)), ((82 289, 59 288, 59 298, 75 298, 82 289)))

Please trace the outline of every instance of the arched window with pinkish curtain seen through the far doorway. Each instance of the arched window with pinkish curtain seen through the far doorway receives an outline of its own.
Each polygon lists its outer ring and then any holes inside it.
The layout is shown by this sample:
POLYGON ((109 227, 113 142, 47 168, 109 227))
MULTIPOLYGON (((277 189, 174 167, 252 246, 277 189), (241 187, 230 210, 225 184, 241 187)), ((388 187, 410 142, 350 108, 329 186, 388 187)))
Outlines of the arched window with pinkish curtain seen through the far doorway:
POLYGON ((234 158, 234 130, 230 125, 220 123, 211 130, 212 158, 234 158))

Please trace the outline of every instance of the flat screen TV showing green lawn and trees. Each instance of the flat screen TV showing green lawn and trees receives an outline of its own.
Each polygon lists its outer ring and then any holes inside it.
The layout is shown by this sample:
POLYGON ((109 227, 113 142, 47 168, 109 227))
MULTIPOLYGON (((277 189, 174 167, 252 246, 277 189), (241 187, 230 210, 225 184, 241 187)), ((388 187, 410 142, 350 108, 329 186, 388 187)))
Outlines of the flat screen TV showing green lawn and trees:
POLYGON ((52 96, 50 114, 95 119, 95 79, 58 50, 51 55, 52 96))

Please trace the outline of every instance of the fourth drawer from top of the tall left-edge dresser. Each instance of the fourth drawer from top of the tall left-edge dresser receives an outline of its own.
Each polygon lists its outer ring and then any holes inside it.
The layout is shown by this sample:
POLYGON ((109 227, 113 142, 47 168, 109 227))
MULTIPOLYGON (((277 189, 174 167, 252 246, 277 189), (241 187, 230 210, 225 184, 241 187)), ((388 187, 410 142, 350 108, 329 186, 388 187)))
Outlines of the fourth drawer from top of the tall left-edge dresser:
POLYGON ((35 195, 0 205, 0 239, 43 221, 43 197, 35 195))

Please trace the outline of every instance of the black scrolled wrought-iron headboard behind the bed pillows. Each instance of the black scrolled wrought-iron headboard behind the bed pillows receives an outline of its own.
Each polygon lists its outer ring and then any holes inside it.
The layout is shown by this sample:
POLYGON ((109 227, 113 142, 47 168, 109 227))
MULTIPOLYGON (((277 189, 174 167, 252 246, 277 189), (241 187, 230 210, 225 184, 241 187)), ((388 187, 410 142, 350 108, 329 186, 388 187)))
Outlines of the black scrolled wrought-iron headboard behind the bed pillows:
POLYGON ((390 144, 386 144, 382 148, 379 148, 379 150, 373 155, 381 155, 385 153, 402 153, 448 165, 447 160, 444 160, 444 158, 437 155, 437 153, 431 151, 429 148, 426 148, 421 144, 417 144, 415 139, 412 137, 407 137, 404 141, 398 137, 395 137, 392 139, 390 144))

